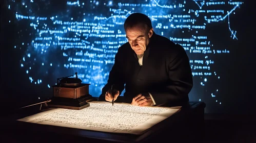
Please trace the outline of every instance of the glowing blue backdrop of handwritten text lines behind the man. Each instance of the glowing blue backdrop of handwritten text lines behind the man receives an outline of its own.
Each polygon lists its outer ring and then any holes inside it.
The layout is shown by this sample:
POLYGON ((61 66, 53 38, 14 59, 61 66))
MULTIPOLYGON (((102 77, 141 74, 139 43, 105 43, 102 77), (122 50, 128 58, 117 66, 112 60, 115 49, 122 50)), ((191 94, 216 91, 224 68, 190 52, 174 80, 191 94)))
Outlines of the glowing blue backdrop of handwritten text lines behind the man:
POLYGON ((221 97, 225 67, 221 67, 220 57, 233 52, 224 45, 240 40, 232 19, 243 5, 244 1, 232 0, 10 0, 6 6, 15 18, 6 20, 15 26, 12 48, 22 54, 19 69, 30 85, 51 93, 57 78, 77 72, 83 83, 91 84, 90 94, 99 97, 117 49, 127 42, 126 17, 144 13, 151 18, 156 34, 186 50, 194 80, 190 100, 211 102, 211 108, 217 108, 226 104, 221 97), (218 30, 222 33, 211 33, 218 30), (220 46, 216 36, 226 43, 220 46))

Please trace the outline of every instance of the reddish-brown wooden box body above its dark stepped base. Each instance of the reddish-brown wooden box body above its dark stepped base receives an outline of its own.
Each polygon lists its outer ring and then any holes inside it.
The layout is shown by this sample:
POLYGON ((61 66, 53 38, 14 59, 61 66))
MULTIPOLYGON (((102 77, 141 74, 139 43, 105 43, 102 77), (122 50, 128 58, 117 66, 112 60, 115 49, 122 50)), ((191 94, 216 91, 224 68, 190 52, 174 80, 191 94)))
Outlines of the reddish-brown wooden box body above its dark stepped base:
POLYGON ((89 94, 89 85, 81 83, 75 87, 62 87, 60 85, 53 86, 53 97, 77 99, 89 94))

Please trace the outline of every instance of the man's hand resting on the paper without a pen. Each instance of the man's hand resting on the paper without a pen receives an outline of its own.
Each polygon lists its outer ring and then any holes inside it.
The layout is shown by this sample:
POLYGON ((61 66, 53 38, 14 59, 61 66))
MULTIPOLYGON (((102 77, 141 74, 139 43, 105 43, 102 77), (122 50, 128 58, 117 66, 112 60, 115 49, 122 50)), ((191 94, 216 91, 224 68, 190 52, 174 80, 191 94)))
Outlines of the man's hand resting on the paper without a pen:
POLYGON ((132 99, 132 105, 135 106, 151 106, 153 103, 149 94, 139 94, 132 99))

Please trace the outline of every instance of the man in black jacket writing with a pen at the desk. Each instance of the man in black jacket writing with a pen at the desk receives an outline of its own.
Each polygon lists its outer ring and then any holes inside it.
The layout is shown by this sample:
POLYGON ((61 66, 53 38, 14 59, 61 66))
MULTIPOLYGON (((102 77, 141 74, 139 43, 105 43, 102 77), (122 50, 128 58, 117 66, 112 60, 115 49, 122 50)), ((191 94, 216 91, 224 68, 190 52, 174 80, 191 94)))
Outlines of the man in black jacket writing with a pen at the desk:
POLYGON ((188 102, 193 81, 183 47, 155 34, 141 13, 127 17, 124 29, 128 42, 115 55, 100 101, 115 101, 125 85, 125 102, 135 106, 188 102))

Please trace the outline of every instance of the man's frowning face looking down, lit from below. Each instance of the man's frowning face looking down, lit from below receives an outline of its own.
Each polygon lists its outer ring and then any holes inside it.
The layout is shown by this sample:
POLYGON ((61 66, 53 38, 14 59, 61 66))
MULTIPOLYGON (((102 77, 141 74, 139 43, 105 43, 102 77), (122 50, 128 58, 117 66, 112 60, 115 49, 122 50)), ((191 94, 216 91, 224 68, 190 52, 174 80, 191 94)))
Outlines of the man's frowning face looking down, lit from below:
POLYGON ((135 26, 126 29, 126 37, 131 45, 132 50, 137 55, 142 55, 149 43, 149 38, 153 34, 153 29, 147 31, 143 26, 135 26))

